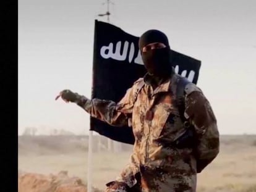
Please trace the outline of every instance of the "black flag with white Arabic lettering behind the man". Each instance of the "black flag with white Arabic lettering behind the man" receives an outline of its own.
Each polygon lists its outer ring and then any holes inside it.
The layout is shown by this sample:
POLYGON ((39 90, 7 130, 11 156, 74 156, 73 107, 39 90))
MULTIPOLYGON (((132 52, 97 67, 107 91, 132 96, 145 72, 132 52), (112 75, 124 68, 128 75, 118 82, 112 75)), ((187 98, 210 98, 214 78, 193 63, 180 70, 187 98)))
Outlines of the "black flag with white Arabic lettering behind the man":
MULTIPOLYGON (((145 75, 138 43, 139 37, 95 20, 92 99, 118 102, 134 81, 145 75)), ((201 62, 177 51, 172 50, 172 54, 176 72, 196 84, 201 62)), ((90 130, 112 140, 134 144, 130 127, 113 127, 91 117, 90 130)))

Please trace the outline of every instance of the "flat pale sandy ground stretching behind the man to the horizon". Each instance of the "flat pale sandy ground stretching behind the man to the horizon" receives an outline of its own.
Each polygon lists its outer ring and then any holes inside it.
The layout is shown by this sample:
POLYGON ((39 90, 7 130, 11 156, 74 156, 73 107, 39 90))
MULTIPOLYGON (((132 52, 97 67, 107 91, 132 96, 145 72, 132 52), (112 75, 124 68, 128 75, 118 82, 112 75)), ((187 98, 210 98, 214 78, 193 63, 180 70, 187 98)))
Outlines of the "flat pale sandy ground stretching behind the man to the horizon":
MULTIPOLYGON (((20 136, 19 173, 58 174, 87 180, 87 138, 81 136, 20 136)), ((127 162, 130 149, 93 152, 93 186, 103 190, 127 162)), ((198 174, 197 191, 256 192, 256 135, 221 136, 221 151, 198 174)))

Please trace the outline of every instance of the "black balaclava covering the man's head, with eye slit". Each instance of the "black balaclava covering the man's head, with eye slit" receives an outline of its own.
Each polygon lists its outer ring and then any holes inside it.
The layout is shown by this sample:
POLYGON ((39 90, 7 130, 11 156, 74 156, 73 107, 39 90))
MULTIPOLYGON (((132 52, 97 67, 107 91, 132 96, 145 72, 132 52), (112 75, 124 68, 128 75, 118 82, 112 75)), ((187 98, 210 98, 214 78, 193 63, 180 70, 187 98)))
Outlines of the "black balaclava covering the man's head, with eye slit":
POLYGON ((158 30, 148 30, 140 36, 139 49, 142 61, 150 75, 165 77, 171 74, 171 51, 167 36, 158 30), (142 52, 142 48, 150 43, 163 43, 166 48, 150 49, 142 52))

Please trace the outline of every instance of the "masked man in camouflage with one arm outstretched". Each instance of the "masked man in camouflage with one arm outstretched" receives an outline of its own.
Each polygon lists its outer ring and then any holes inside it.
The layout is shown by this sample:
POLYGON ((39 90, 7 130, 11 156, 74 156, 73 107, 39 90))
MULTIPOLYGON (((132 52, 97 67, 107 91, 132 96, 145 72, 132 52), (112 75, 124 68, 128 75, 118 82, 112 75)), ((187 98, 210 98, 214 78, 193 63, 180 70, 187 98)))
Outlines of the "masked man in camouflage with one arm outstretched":
POLYGON ((219 152, 215 115, 202 90, 174 72, 164 33, 146 31, 139 49, 147 74, 121 101, 90 100, 70 90, 59 96, 110 125, 132 126, 129 163, 106 191, 195 191, 197 173, 219 152))

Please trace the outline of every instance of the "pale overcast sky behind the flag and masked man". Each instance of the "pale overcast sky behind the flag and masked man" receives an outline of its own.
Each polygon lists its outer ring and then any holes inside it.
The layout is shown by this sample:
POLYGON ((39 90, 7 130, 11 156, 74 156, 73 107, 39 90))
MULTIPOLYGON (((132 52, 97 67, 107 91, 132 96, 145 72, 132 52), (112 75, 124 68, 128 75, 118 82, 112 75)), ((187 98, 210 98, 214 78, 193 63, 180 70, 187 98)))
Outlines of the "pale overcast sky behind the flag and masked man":
MULTIPOLYGON (((104 0, 19 1, 19 134, 25 127, 88 133, 89 115, 54 101, 63 89, 90 98, 94 20, 104 0)), ((140 36, 151 28, 202 61, 197 85, 221 134, 256 133, 256 1, 113 0, 110 22, 140 36)))

